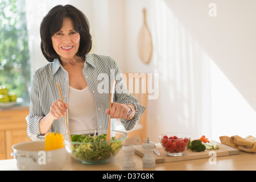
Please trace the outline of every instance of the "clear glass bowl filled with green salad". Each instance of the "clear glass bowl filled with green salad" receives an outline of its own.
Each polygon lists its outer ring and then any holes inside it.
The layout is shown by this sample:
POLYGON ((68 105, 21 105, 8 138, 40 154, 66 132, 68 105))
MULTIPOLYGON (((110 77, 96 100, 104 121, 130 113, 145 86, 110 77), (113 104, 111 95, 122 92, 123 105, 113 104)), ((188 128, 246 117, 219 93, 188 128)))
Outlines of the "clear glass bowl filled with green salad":
POLYGON ((127 133, 112 131, 112 140, 106 141, 107 130, 84 130, 71 133, 71 140, 65 136, 65 148, 68 153, 82 163, 105 163, 114 158, 121 150, 127 133))

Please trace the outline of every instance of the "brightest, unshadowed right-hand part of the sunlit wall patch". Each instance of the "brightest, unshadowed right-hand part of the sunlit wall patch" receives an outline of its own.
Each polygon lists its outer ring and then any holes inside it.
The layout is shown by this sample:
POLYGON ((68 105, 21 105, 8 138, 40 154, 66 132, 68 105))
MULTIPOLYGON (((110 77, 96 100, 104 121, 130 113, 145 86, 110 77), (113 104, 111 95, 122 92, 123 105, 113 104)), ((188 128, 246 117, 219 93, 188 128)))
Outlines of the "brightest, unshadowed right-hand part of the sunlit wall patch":
POLYGON ((256 114, 245 98, 210 61, 213 138, 222 135, 256 136, 256 114))

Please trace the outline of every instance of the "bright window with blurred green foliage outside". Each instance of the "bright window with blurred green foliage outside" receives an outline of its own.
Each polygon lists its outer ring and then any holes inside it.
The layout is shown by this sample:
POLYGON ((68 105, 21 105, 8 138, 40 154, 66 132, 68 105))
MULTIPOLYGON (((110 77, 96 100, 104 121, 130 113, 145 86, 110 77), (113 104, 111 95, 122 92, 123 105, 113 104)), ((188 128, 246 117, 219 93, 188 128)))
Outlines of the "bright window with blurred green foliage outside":
POLYGON ((26 23, 26 0, 0 2, 0 85, 27 100, 30 60, 26 23))

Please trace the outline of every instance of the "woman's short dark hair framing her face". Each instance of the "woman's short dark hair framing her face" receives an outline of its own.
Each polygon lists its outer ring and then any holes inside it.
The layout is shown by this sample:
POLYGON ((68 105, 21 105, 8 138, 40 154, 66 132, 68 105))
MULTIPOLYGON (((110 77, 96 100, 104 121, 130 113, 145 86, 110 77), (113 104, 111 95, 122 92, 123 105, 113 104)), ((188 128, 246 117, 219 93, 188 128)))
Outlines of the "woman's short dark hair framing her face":
POLYGON ((61 62, 59 55, 52 46, 51 37, 60 31, 64 18, 71 18, 75 31, 80 34, 80 46, 76 55, 85 56, 92 48, 92 36, 86 16, 72 5, 57 5, 43 18, 40 25, 41 50, 49 62, 56 58, 61 62))

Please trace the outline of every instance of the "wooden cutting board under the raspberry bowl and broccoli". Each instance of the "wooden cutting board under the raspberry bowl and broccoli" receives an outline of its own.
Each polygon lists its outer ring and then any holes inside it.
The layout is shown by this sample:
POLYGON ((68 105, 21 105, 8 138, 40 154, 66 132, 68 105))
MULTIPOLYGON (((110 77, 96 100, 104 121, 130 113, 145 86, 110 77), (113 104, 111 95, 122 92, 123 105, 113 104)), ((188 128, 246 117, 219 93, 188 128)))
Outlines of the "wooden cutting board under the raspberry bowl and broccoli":
MULTIPOLYGON (((218 142, 216 142, 218 143, 218 142)), ((160 152, 160 156, 156 155, 155 156, 155 162, 157 163, 167 163, 167 162, 176 162, 176 161, 181 161, 181 160, 192 160, 192 159, 203 159, 203 158, 210 158, 213 156, 212 154, 209 154, 210 151, 216 151, 216 155, 218 156, 226 156, 226 155, 236 155, 239 154, 239 150, 233 147, 226 146, 225 144, 218 143, 218 146, 220 148, 216 150, 205 150, 203 152, 195 152, 191 151, 189 148, 185 151, 183 156, 169 156, 164 152, 162 146, 160 143, 156 143, 156 147, 158 148, 160 152)), ((135 146, 135 154, 138 154, 143 158, 144 156, 144 150, 141 145, 135 146)))

